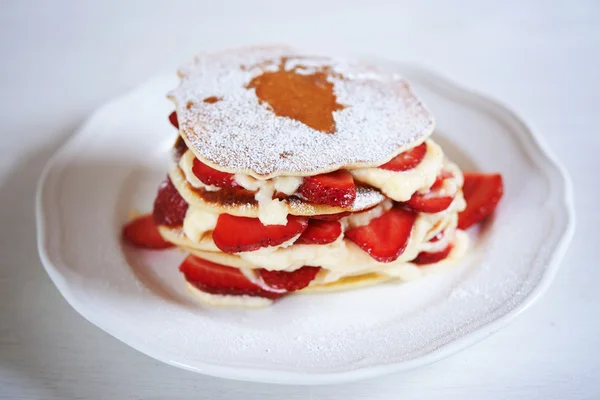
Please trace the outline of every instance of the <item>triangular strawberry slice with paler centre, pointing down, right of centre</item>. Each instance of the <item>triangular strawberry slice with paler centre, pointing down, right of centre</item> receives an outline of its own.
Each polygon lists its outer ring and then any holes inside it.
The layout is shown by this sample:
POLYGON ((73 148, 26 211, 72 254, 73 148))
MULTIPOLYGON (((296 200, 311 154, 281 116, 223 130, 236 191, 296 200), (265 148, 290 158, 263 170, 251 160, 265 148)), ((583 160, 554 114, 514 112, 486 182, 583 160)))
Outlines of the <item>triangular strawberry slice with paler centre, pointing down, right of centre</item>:
POLYGON ((379 262, 395 261, 408 245, 417 214, 395 205, 368 225, 346 231, 345 236, 379 262))

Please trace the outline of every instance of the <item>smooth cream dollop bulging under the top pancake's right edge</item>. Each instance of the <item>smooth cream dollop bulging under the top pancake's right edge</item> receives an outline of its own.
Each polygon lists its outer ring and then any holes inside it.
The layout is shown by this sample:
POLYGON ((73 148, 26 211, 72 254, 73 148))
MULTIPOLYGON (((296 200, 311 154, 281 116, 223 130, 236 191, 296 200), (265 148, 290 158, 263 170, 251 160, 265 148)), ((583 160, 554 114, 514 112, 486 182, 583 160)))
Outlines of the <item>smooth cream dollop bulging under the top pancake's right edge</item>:
POLYGON ((444 163, 444 153, 433 140, 427 140, 423 161, 408 171, 388 171, 381 168, 359 168, 350 172, 359 181, 381 190, 393 200, 408 201, 415 192, 427 191, 435 182, 444 163))

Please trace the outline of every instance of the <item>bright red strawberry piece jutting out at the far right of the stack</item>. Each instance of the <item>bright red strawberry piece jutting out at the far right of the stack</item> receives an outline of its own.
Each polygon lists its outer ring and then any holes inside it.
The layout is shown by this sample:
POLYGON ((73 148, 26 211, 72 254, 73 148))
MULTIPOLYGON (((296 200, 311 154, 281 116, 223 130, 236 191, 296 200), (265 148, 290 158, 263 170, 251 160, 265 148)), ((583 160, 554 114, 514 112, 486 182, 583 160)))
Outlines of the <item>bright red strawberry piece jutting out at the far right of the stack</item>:
POLYGON ((493 213, 503 194, 500 174, 466 173, 463 195, 467 209, 458 214, 458 228, 467 229, 493 213))

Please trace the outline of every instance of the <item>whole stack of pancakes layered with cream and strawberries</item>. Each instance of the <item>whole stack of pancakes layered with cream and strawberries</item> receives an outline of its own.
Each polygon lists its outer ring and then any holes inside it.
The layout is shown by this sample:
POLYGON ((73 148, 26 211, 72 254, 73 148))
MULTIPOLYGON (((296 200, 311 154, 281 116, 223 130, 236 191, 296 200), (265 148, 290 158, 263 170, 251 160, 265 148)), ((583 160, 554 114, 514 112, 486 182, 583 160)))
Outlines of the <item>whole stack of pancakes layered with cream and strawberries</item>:
POLYGON ((155 222, 197 262, 260 288, 211 286, 182 267, 203 300, 410 280, 464 254, 462 173, 402 77, 280 47, 200 55, 179 76, 155 222), (263 271, 302 282, 271 286, 263 271))

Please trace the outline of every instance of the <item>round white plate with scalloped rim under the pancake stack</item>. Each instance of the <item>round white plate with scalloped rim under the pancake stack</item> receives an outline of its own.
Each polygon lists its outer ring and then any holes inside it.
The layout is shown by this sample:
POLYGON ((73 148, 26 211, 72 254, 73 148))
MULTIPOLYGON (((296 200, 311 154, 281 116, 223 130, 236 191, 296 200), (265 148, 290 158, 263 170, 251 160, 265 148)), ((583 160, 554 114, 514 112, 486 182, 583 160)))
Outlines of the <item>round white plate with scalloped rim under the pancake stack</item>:
POLYGON ((422 69, 398 66, 465 170, 499 171, 505 196, 454 269, 409 284, 296 295, 261 310, 211 309, 183 289, 176 250, 120 243, 151 209, 175 137, 158 77, 98 110, 48 163, 37 198, 48 274, 85 318, 166 363, 225 378, 351 381, 439 360, 489 336, 549 285, 573 232, 570 183, 514 113, 422 69))

